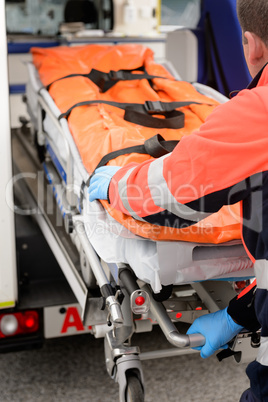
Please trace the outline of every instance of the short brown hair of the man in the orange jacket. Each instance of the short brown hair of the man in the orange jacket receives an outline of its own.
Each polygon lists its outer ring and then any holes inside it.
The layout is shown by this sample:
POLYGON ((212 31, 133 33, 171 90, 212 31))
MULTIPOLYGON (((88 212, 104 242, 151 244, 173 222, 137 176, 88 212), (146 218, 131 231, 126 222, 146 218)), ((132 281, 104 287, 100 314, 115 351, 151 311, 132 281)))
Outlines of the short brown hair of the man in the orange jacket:
POLYGON ((255 33, 268 46, 267 0, 237 0, 237 16, 243 32, 255 33))

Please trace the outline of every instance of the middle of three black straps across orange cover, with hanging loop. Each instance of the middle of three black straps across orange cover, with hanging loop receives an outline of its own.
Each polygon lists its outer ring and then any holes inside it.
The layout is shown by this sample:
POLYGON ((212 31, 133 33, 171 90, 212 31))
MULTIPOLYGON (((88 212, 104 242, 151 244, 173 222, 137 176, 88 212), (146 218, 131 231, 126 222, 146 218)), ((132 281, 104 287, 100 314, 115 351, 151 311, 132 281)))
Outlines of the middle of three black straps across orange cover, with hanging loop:
MULTIPOLYGON (((183 106, 189 106, 192 104, 201 105, 203 103, 187 101, 187 102, 161 102, 161 101, 146 101, 141 103, 119 103, 107 100, 89 100, 84 102, 78 102, 70 107, 66 112, 62 113, 58 119, 65 117, 68 119, 71 111, 79 106, 98 105, 105 104, 125 110, 124 119, 136 123, 145 127, 153 128, 173 128, 178 129, 184 127, 184 113, 176 110, 183 106), (162 115, 165 119, 159 119, 153 117, 153 115, 162 115)), ((209 103, 207 103, 209 104, 209 103)))

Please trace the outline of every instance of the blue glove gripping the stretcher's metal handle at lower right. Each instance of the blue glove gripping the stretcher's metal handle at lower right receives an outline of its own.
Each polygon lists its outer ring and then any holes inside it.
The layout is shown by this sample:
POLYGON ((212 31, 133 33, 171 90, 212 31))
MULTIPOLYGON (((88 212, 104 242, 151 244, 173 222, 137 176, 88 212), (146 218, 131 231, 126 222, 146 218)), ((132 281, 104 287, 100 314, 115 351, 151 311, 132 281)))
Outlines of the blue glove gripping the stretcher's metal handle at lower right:
POLYGON ((205 345, 196 349, 201 350, 200 356, 205 359, 218 349, 227 349, 227 343, 242 329, 243 327, 236 324, 227 313, 226 307, 224 310, 197 318, 188 329, 187 335, 196 333, 204 335, 205 345))

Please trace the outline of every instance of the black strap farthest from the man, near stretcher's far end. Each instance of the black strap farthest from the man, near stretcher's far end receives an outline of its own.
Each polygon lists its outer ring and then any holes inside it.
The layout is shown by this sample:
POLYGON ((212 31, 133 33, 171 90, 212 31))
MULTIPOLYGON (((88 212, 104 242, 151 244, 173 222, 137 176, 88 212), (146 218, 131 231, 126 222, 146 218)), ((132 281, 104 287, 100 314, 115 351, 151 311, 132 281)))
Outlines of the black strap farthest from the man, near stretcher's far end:
POLYGON ((108 89, 112 88, 118 81, 134 81, 142 79, 152 80, 154 78, 167 79, 167 77, 147 74, 143 66, 133 70, 118 70, 118 71, 111 70, 108 73, 92 68, 92 70, 88 74, 69 74, 66 75, 65 77, 61 77, 54 80, 53 82, 51 82, 46 86, 47 91, 50 89, 51 85, 54 84, 54 82, 72 77, 88 78, 89 80, 94 82, 94 84, 96 84, 102 92, 108 91, 108 89), (140 73, 133 74, 134 71, 141 71, 142 74, 140 73))

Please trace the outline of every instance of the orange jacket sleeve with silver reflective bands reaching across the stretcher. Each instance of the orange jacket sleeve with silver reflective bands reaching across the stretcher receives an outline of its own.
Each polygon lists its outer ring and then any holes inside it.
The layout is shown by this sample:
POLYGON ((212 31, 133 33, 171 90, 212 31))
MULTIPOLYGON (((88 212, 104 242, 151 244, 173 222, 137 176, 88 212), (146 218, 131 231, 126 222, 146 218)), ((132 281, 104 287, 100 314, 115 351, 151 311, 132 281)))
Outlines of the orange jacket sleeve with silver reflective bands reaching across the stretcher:
POLYGON ((266 127, 263 114, 254 90, 242 91, 218 106, 198 132, 184 136, 172 153, 120 169, 109 188, 112 207, 159 225, 176 218, 177 227, 185 227, 244 199, 250 191, 248 177, 262 163, 268 165, 266 129, 260 138, 252 122, 256 118, 258 127, 266 127), (253 119, 245 113, 252 104, 253 119))

